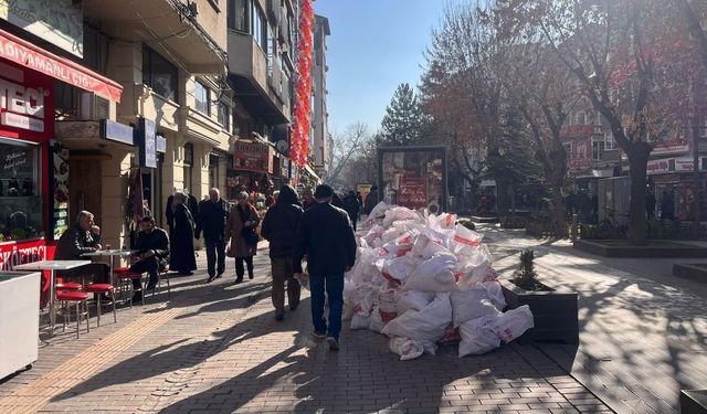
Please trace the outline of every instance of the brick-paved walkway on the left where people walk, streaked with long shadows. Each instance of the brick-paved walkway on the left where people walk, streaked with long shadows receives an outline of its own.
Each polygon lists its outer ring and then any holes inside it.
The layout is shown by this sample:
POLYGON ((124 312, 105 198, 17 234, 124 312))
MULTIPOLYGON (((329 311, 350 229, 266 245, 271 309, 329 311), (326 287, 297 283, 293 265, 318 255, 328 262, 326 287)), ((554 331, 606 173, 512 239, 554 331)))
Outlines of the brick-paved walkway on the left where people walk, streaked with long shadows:
POLYGON ((274 320, 265 251, 254 280, 233 285, 232 266, 209 285, 203 272, 175 278, 171 300, 122 309, 78 340, 67 330, 42 342, 32 370, 0 383, 0 412, 610 411, 535 347, 464 359, 443 347, 402 362, 383 336, 345 322, 331 352, 309 336, 306 291, 274 320))

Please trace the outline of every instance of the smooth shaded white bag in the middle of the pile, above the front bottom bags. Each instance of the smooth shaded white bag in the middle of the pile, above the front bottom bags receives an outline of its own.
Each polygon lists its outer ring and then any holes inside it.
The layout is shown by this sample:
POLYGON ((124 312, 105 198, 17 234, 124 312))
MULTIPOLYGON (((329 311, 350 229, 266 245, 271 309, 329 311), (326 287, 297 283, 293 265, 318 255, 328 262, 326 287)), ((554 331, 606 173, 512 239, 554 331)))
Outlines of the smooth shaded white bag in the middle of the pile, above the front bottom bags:
POLYGON ((405 283, 404 290, 453 291, 456 289, 456 257, 439 254, 415 267, 405 283))

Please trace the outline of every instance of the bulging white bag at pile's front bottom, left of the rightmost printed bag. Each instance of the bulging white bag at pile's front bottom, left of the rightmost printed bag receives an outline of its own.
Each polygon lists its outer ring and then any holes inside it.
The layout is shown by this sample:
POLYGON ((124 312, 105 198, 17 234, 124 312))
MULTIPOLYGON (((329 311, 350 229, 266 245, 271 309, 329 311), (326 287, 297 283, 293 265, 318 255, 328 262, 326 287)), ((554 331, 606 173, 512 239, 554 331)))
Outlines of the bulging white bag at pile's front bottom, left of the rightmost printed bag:
POLYGON ((422 310, 408 310, 391 320, 382 329, 389 337, 411 338, 419 341, 425 351, 434 353, 434 344, 444 336, 452 322, 452 304, 449 294, 439 294, 422 310))

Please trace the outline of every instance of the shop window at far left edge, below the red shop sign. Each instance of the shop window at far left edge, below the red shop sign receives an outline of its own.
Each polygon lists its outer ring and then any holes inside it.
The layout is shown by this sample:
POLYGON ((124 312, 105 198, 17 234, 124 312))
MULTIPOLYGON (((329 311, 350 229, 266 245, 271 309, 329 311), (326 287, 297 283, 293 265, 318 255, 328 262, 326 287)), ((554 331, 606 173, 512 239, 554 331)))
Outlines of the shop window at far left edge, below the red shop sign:
POLYGON ((0 138, 0 242, 43 236, 35 145, 0 138))

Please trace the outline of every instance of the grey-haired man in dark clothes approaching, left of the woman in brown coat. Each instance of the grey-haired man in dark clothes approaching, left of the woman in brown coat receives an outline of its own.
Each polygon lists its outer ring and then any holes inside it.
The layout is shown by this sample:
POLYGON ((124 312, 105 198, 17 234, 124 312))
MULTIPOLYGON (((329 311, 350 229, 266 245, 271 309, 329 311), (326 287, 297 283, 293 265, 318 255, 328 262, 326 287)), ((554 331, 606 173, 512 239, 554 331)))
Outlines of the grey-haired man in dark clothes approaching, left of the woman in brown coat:
POLYGON ((221 277, 225 272, 225 222, 229 219, 229 203, 221 199, 219 189, 209 190, 209 201, 203 202, 199 209, 197 238, 203 231, 209 269, 207 283, 221 277))

